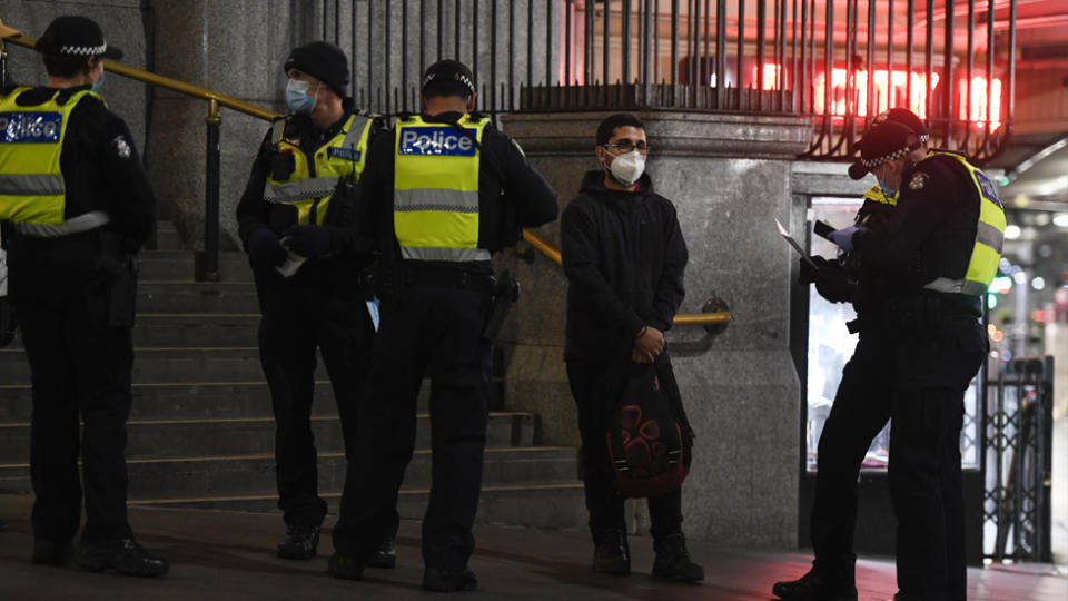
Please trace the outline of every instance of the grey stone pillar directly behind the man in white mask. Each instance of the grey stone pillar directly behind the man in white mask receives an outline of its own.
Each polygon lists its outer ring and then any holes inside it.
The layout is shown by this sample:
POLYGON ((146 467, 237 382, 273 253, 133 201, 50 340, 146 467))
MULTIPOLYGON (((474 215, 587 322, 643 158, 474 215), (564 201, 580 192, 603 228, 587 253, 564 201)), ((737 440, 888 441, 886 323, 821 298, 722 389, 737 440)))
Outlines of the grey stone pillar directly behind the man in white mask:
MULTIPOLYGON (((594 134, 607 114, 528 114, 504 118, 532 162, 566 201, 596 167, 594 134)), ((685 531, 726 544, 794 546, 798 532, 801 390, 790 355, 794 257, 774 218, 791 216, 790 166, 811 125, 790 117, 639 112, 652 154, 654 189, 679 211, 690 250, 681 313, 701 313, 718 296, 733 314, 704 352, 673 353, 696 431, 684 489, 685 531)), ((803 215, 801 216, 803 218, 803 215)), ((558 223, 538 235, 558 247, 558 223)), ((518 272, 523 295, 505 354, 511 408, 535 411, 542 443, 576 444, 577 426, 563 359, 566 282, 544 257, 501 262, 518 272)), ((675 327, 672 346, 704 335, 675 327)), ((637 530, 647 532, 643 504, 637 530)))

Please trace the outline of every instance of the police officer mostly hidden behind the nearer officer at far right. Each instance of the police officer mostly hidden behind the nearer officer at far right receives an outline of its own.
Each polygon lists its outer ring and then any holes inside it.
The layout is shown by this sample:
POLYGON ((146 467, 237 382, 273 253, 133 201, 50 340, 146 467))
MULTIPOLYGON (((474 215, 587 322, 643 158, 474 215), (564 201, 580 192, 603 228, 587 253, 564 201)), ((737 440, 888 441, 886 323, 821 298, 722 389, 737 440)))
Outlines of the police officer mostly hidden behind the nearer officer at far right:
MULTIPOLYGON (((927 126, 912 111, 893 108, 877 116, 873 122, 884 121, 909 128, 926 145, 927 126)), ((864 193, 854 223, 881 229, 893 213, 898 194, 888 183, 877 183, 864 193)), ((847 325, 858 334, 858 341, 820 434, 815 497, 809 521, 815 554, 812 569, 798 580, 777 582, 772 592, 791 601, 847 601, 857 599, 857 480, 871 441, 890 420, 894 361, 883 308, 894 292, 891 282, 878 273, 864 272, 854 255, 843 254, 841 260, 819 256, 812 259, 818 269, 805 260, 799 262, 801 284, 814 283, 817 292, 832 303, 852 303, 857 318, 847 325)))

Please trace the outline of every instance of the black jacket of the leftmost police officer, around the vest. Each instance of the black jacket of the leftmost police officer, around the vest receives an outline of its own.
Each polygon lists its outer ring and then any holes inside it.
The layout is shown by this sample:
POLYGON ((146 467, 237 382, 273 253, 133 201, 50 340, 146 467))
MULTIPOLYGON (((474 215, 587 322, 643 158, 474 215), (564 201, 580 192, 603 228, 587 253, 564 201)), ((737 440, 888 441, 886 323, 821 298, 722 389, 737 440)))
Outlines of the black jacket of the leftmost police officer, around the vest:
MULTIPOLYGON (((89 86, 68 88, 63 102, 89 86)), ((0 93, 10 93, 8 87, 0 93)), ((38 87, 19 96, 19 106, 47 101, 55 88, 38 87)), ((131 254, 156 227, 157 200, 129 128, 93 97, 83 97, 70 112, 59 157, 66 186, 66 216, 101 210, 111 223, 81 234, 55 238, 19 236, 4 230, 12 269, 57 268, 72 277, 92 274, 101 253, 131 254), (107 239, 105 239, 107 238, 107 239)))

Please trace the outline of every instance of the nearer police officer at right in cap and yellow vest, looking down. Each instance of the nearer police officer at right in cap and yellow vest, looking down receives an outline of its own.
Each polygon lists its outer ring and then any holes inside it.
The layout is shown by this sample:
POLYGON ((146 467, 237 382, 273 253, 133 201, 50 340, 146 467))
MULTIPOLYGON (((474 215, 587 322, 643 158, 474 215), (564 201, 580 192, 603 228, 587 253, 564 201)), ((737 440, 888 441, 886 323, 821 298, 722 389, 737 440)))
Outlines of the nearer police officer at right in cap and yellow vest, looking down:
POLYGON ((957 154, 927 152, 901 124, 872 127, 854 178, 900 189, 886 227, 831 238, 899 293, 884 309, 891 374, 890 493, 898 518, 896 599, 965 599, 960 474, 963 393, 989 349, 981 302, 1001 257, 1005 211, 990 179, 957 154))

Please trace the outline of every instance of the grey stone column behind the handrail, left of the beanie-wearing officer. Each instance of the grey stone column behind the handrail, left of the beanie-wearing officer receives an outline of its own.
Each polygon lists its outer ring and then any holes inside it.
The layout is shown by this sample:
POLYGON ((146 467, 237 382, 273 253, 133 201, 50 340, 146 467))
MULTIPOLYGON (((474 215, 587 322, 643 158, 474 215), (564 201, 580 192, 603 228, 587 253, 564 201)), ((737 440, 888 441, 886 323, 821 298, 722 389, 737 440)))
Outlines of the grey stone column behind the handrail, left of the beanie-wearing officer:
MULTIPOLYGON (((151 0, 155 71, 226 96, 285 111, 283 61, 322 14, 291 0, 151 0), (296 41, 299 40, 299 41, 296 41)), ((320 26, 322 28, 322 26, 320 26)), ((204 248, 208 104, 152 90, 148 166, 161 217, 174 219, 189 248, 204 248)), ((269 125, 222 109, 221 247, 234 248, 235 210, 269 125)))

